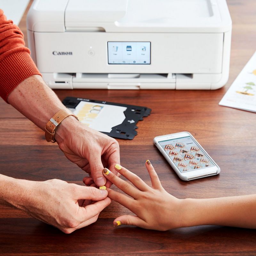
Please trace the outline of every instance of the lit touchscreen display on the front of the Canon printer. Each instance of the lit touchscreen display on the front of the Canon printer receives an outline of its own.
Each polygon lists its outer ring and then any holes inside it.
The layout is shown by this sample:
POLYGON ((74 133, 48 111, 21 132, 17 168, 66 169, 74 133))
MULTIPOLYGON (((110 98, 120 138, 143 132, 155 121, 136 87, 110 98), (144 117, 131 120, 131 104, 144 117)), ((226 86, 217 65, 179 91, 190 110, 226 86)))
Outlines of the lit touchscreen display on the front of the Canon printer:
POLYGON ((108 64, 150 64, 150 42, 108 42, 108 64))

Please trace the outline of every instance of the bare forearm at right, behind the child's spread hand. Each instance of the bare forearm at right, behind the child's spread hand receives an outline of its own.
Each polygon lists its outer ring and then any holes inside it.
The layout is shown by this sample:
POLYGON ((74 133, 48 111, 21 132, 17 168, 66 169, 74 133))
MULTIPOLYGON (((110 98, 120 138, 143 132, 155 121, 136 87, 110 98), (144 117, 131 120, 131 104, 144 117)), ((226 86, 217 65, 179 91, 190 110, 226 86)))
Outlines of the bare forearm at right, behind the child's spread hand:
POLYGON ((256 228, 256 195, 185 199, 184 226, 256 228))

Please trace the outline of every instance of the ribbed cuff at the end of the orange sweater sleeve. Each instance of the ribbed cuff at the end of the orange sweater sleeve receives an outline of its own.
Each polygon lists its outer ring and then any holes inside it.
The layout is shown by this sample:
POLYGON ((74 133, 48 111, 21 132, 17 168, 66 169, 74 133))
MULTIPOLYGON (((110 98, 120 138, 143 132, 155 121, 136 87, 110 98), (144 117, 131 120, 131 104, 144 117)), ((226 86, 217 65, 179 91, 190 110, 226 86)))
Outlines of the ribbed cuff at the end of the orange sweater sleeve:
POLYGON ((41 76, 28 52, 14 52, 7 56, 0 61, 0 96, 7 102, 9 94, 33 75, 41 76))

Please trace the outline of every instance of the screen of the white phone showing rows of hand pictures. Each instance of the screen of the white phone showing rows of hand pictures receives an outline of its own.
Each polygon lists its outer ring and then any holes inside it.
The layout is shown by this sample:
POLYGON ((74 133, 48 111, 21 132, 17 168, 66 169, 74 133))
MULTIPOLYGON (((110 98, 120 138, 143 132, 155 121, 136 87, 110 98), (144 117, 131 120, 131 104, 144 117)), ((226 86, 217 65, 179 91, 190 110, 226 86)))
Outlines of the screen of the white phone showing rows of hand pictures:
POLYGON ((202 149, 190 137, 158 142, 180 172, 191 172, 199 168, 214 166, 202 149))

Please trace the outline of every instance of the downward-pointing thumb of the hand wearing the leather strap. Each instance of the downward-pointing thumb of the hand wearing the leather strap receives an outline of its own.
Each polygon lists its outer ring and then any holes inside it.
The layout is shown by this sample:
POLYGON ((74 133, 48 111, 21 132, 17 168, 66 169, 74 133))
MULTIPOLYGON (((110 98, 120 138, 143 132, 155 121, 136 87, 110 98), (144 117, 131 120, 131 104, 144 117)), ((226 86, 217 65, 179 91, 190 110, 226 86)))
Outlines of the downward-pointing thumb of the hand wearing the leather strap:
POLYGON ((100 187, 106 184, 107 179, 102 174, 104 167, 101 162, 100 153, 95 152, 94 154, 95 155, 91 156, 89 159, 90 171, 95 184, 100 187))

